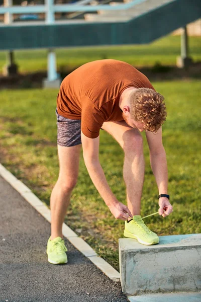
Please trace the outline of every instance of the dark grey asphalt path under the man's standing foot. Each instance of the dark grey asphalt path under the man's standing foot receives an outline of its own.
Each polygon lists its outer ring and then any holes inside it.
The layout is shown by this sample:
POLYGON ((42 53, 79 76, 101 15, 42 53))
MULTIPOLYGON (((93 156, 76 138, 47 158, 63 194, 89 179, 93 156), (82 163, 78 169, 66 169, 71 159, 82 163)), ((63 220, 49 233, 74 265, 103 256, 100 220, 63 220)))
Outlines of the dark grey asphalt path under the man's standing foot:
POLYGON ((68 263, 47 261, 50 223, 0 176, 0 302, 126 302, 120 283, 65 239, 68 263))

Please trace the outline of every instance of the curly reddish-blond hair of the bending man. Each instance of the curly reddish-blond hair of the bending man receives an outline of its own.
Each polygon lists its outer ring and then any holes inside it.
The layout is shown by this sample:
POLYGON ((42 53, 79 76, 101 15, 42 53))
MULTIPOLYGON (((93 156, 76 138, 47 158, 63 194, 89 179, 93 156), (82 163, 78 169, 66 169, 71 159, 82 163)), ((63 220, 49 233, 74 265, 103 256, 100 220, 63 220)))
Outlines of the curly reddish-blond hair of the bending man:
POLYGON ((144 124, 144 130, 157 132, 166 120, 164 97, 153 89, 138 88, 128 102, 131 118, 144 124))

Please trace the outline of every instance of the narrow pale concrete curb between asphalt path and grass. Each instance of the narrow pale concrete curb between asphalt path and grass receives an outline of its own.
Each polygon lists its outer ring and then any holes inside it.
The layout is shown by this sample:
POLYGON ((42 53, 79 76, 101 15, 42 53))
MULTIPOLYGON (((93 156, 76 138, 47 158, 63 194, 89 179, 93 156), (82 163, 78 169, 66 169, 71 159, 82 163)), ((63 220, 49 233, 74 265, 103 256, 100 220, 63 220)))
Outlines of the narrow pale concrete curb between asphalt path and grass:
MULTIPOLYGON (((48 207, 20 180, 0 164, 0 175, 23 196, 46 220, 51 222, 51 213, 48 207)), ((63 236, 93 264, 102 270, 113 281, 120 281, 120 273, 107 261, 97 256, 95 251, 80 237, 77 236, 65 223, 62 226, 63 236)))

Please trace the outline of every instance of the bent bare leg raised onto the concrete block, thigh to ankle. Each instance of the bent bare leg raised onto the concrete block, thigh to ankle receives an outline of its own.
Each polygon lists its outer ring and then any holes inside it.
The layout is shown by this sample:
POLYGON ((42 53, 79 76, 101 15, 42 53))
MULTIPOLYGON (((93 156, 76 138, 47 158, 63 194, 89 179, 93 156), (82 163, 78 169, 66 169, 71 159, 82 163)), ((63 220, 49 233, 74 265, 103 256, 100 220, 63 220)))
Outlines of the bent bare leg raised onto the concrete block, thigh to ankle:
POLYGON ((102 128, 124 149, 123 176, 127 188, 128 208, 133 215, 140 215, 145 169, 142 136, 137 129, 130 127, 125 121, 105 122, 102 128))

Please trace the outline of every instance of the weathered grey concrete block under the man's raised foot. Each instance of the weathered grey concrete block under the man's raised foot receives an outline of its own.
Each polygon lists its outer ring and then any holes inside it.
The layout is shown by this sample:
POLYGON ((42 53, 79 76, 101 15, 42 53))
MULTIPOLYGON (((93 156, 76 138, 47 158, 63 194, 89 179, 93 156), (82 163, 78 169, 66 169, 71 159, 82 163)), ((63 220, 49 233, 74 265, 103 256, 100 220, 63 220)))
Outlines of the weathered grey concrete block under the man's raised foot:
POLYGON ((120 239, 122 290, 136 295, 201 290, 201 234, 160 236, 157 245, 120 239))

